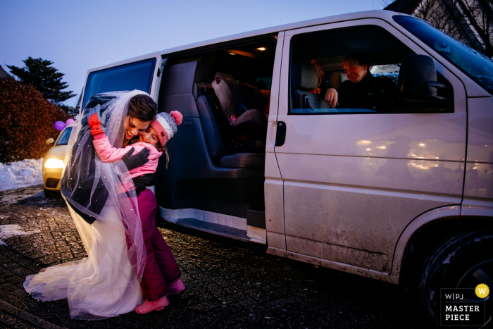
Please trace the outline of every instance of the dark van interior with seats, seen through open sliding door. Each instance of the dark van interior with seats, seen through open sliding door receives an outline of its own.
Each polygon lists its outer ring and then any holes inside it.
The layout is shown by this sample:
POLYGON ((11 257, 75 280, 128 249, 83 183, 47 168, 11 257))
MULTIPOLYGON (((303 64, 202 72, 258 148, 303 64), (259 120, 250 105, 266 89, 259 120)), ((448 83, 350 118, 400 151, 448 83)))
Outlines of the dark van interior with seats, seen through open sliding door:
MULTIPOLYGON (((268 116, 276 41, 272 35, 168 58, 158 107, 160 112, 180 111, 183 121, 166 144, 168 168, 160 161, 156 171, 156 199, 163 209, 248 218, 248 225, 266 228, 265 137, 241 144, 233 140, 213 82, 216 75, 232 80, 244 106, 268 116)), ((196 214, 177 217, 180 225, 249 240, 246 225, 207 223, 196 214)))

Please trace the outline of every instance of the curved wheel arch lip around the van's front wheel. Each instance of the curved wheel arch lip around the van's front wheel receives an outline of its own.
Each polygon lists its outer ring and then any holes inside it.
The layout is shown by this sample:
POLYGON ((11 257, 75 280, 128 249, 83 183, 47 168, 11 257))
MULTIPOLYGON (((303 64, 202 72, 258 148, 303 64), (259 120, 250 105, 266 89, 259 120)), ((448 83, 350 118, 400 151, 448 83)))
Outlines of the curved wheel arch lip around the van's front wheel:
POLYGON ((390 274, 399 276, 399 273, 401 273, 402 259, 404 258, 404 254, 406 249, 409 247, 409 243, 411 242, 414 233, 418 232, 418 230, 424 228, 432 222, 458 218, 460 214, 461 206, 457 204, 454 206, 444 206, 441 208, 432 209, 417 218, 414 218, 399 237, 399 242, 397 242, 394 252, 394 261, 392 262, 392 271, 390 274))

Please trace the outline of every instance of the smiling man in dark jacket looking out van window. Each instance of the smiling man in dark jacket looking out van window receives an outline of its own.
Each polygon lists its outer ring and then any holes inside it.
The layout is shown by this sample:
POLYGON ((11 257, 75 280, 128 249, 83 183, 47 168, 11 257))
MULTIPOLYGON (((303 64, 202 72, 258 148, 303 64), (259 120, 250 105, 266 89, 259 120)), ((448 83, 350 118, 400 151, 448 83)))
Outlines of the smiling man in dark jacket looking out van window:
POLYGON ((347 80, 339 89, 329 87, 325 92, 325 102, 330 107, 366 108, 383 113, 394 111, 396 85, 391 78, 374 77, 362 55, 347 56, 343 68, 347 80))

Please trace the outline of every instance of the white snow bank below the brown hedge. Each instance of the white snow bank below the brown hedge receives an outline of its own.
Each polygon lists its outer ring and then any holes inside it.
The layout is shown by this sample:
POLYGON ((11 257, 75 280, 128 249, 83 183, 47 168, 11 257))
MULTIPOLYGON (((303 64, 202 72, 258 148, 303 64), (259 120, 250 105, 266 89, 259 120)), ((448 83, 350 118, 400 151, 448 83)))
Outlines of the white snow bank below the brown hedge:
POLYGON ((43 183, 43 159, 0 163, 0 191, 43 183))

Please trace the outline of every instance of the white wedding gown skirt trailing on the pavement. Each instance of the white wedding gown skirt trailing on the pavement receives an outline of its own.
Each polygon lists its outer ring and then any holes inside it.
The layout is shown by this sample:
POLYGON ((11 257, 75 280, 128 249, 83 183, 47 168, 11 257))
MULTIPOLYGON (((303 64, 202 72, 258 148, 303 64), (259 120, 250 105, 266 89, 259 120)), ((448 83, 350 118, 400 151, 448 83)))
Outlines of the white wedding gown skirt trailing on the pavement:
POLYGON ((100 213, 104 221, 96 219, 92 225, 68 209, 88 257, 28 276, 25 290, 42 302, 68 299, 70 318, 97 320, 133 311, 144 297, 128 259, 122 219, 111 198, 100 213))

